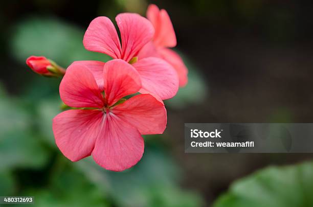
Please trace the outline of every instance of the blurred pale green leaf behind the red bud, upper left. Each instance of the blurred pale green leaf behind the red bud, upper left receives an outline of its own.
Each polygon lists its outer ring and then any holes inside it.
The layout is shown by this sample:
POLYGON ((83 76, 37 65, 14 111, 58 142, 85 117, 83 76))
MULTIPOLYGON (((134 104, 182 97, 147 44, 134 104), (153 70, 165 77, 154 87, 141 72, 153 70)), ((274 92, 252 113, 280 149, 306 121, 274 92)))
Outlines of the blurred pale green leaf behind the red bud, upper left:
MULTIPOLYGON (((87 25, 86 25, 87 27, 87 25)), ((32 17, 13 30, 11 54, 21 64, 31 55, 46 56, 62 67, 75 60, 107 61, 109 56, 84 49, 84 29, 52 17, 32 17)))

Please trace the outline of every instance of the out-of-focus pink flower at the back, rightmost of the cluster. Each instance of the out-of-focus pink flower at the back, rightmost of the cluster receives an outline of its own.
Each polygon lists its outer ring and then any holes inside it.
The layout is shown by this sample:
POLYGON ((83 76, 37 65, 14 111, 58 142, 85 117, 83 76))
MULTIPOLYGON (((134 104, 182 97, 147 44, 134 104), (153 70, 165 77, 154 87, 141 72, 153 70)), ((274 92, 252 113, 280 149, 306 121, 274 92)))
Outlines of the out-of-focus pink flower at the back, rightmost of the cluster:
POLYGON ((151 4, 147 10, 147 18, 151 21, 155 33, 152 41, 139 52, 138 58, 163 58, 175 68, 180 87, 185 86, 188 82, 187 67, 176 52, 168 49, 176 46, 176 35, 168 13, 151 4))

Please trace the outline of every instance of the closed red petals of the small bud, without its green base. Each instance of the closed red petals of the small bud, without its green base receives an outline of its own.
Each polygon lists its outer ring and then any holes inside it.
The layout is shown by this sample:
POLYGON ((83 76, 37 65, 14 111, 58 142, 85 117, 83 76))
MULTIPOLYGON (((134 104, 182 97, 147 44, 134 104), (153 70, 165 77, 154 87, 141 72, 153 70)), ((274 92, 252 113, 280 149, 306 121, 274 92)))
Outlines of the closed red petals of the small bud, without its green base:
POLYGON ((26 64, 37 74, 44 76, 52 76, 47 67, 53 67, 51 62, 44 56, 30 56, 26 60, 26 64))

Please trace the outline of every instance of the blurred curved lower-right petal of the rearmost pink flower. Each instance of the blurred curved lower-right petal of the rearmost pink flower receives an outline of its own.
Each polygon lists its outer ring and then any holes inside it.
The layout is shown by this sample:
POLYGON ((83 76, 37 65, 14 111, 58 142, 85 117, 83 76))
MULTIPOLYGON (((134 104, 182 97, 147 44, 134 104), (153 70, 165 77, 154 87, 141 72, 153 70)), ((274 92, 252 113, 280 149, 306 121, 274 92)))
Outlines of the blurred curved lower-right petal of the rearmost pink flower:
POLYGON ((159 54, 165 59, 168 63, 170 63, 178 74, 178 78, 180 79, 180 87, 183 87, 188 82, 188 69, 184 64, 180 55, 174 52, 171 49, 160 49, 159 54))

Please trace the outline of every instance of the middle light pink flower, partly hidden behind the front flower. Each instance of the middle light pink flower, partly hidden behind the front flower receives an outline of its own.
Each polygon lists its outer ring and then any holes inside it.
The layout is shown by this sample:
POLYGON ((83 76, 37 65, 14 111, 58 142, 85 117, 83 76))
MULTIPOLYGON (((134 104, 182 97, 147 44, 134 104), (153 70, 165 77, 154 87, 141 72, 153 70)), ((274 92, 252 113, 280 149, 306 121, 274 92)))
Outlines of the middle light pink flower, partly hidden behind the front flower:
POLYGON ((101 16, 92 20, 87 28, 83 39, 84 47, 132 63, 141 78, 140 93, 150 93, 163 100, 175 96, 178 77, 170 64, 157 57, 139 58, 137 61, 138 52, 154 35, 150 21, 133 13, 119 14, 116 21, 122 43, 111 20, 101 16))

